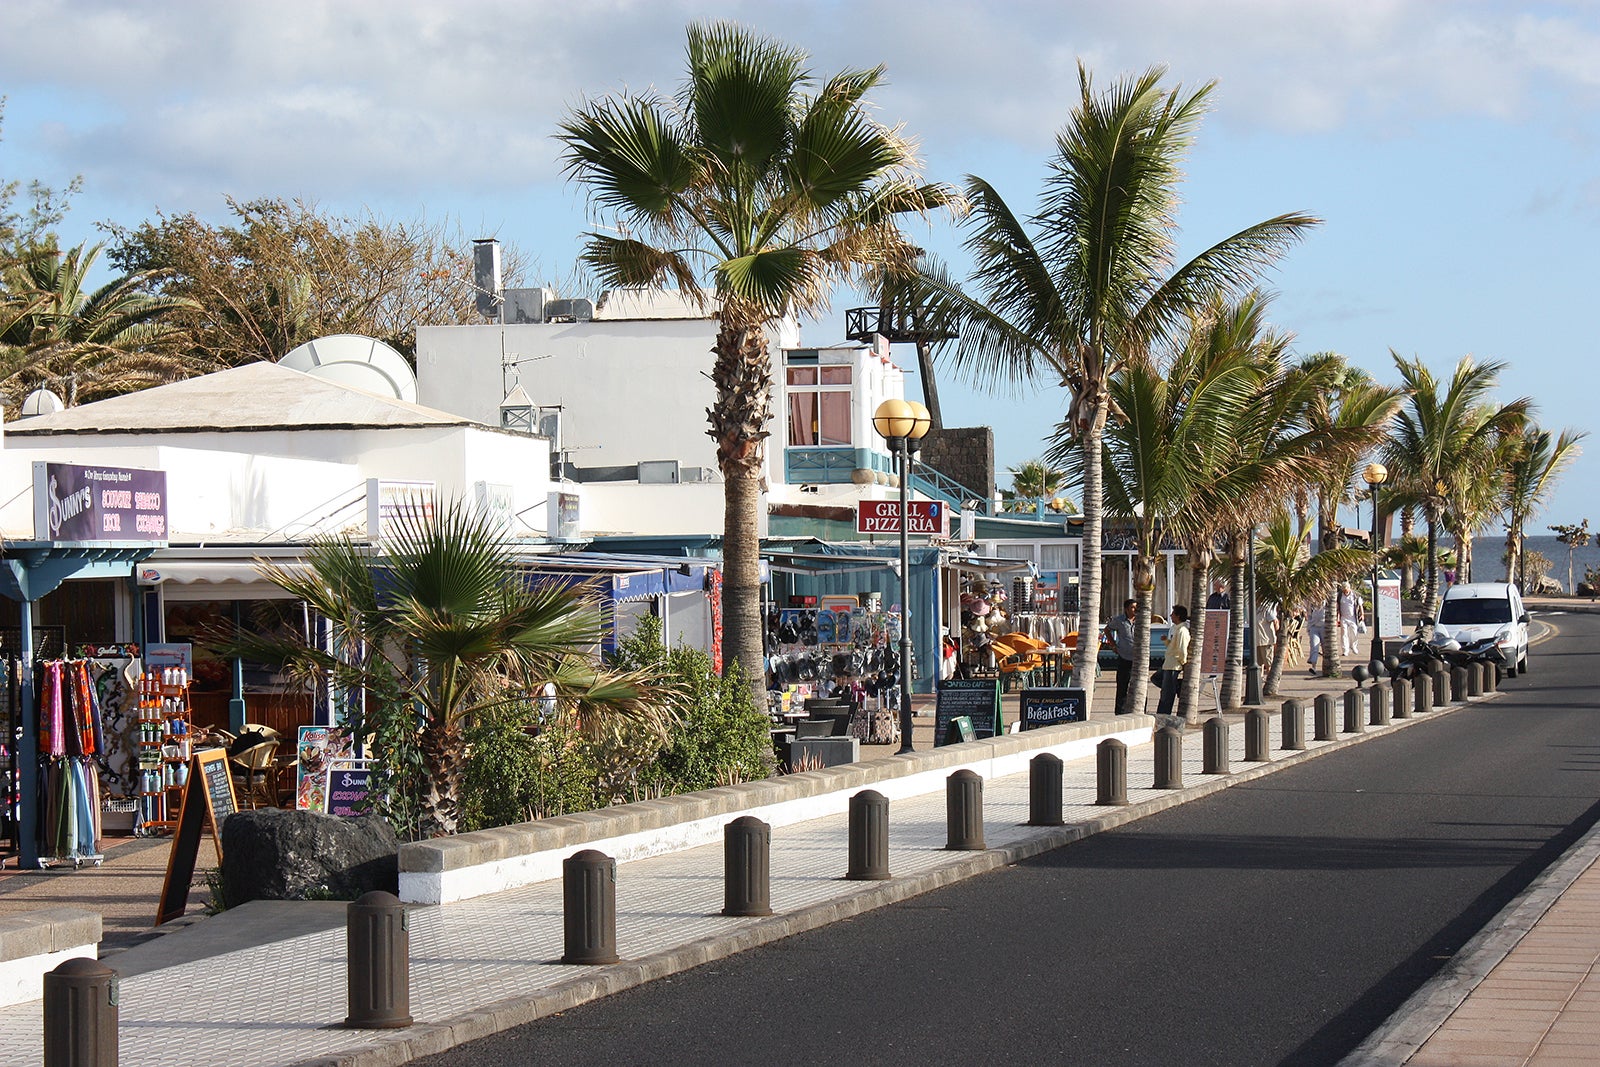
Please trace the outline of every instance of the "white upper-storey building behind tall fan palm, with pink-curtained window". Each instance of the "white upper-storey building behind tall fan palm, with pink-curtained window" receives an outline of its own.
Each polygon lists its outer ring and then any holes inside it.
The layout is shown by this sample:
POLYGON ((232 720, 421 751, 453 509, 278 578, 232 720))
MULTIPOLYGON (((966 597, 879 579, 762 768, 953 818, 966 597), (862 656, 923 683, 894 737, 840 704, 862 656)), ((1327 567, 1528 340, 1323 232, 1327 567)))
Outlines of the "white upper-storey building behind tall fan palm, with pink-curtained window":
MULTIPOLYGON (((507 307, 522 301, 507 293, 507 307)), ((541 293, 541 291, 534 291, 541 293)), ((550 301, 541 296, 539 309, 550 301)), ((418 395, 469 419, 542 432, 582 499, 586 533, 718 533, 723 494, 706 411, 717 320, 670 293, 619 291, 563 301, 514 323, 418 330, 418 395)), ((853 506, 888 499, 894 461, 872 413, 904 395, 888 344, 798 347, 773 323, 768 504, 853 506)), ((946 499, 931 480, 920 494, 946 499)), ((954 501, 960 502, 960 501, 954 501)))

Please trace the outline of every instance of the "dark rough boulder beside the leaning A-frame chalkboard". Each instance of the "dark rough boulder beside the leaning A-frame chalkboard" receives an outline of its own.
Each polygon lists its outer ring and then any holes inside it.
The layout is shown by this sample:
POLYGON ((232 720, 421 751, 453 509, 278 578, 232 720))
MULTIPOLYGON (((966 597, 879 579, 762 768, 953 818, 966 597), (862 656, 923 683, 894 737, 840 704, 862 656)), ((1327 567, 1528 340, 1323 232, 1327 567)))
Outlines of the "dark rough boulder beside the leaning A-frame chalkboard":
POLYGON ((382 817, 346 819, 261 808, 222 822, 222 896, 246 901, 354 901, 397 893, 400 841, 382 817))

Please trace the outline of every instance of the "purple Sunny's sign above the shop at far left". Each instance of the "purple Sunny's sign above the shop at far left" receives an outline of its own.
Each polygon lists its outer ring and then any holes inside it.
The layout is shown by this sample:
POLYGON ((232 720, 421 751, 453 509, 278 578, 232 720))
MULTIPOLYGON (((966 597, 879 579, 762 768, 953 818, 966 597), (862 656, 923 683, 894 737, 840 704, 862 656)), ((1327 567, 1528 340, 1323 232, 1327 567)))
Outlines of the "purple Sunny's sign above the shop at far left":
POLYGON ((166 542, 166 472, 34 464, 38 541, 166 542))

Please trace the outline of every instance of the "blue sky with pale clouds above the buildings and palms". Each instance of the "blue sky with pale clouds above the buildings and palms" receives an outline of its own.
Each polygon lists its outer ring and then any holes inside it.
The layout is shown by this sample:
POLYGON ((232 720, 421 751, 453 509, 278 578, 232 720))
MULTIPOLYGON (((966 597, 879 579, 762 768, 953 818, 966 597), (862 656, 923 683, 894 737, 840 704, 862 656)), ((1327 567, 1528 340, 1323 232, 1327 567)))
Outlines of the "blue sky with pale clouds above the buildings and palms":
MULTIPOLYGON (((1216 82, 1186 162, 1182 258, 1309 211, 1322 226, 1264 278, 1296 352, 1386 382, 1390 352, 1438 374, 1504 362, 1501 402, 1595 427, 1597 2, 3 0, 0 179, 82 174, 69 243, 157 210, 222 221, 224 197, 299 197, 454 219, 515 245, 528 283, 571 280, 595 219, 560 173, 557 123, 606 93, 675 88, 685 27, 712 18, 805 48, 819 75, 885 64, 877 114, 928 178, 978 174, 1018 211, 1080 62, 1098 85, 1152 66, 1166 85, 1216 82)), ((957 274, 962 235, 942 216, 914 230, 957 274)), ((805 344, 842 341, 854 302, 838 293, 805 344)), ((909 346, 896 357, 915 371, 909 346)), ((1002 485, 1066 406, 1054 386, 997 395, 949 371, 939 395, 947 426, 994 427, 1002 485)), ((1600 437, 1528 531, 1600 523, 1597 490, 1600 437)))

